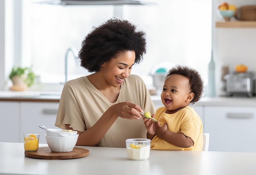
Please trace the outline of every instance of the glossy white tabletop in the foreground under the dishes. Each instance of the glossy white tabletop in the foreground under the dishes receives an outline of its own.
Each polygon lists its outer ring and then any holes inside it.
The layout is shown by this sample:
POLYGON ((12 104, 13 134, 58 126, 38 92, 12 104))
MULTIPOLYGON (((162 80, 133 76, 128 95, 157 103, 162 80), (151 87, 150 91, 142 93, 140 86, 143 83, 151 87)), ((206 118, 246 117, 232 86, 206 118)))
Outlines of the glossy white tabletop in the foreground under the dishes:
POLYGON ((123 148, 82 148, 90 151, 84 158, 42 160, 26 157, 23 143, 0 142, 0 174, 256 175, 256 153, 151 150, 148 160, 135 161, 123 148))

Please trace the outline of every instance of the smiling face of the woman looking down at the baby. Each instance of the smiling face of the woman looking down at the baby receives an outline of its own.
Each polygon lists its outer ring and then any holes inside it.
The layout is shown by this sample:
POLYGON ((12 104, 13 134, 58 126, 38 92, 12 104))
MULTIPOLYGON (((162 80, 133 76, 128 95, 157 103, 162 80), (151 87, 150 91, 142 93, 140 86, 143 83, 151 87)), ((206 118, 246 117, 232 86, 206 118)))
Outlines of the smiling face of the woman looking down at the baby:
POLYGON ((134 63, 135 52, 125 51, 104 63, 101 66, 100 72, 108 84, 118 87, 124 79, 129 77, 134 63))

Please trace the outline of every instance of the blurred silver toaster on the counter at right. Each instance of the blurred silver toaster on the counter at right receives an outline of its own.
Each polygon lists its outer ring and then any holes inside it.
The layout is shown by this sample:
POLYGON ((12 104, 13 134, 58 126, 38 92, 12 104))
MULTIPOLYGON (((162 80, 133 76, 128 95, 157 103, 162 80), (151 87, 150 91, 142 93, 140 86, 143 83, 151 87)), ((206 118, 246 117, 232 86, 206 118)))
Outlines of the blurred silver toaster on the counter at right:
POLYGON ((255 95, 256 74, 254 72, 234 72, 226 74, 224 79, 226 80, 227 95, 244 94, 249 97, 255 95))

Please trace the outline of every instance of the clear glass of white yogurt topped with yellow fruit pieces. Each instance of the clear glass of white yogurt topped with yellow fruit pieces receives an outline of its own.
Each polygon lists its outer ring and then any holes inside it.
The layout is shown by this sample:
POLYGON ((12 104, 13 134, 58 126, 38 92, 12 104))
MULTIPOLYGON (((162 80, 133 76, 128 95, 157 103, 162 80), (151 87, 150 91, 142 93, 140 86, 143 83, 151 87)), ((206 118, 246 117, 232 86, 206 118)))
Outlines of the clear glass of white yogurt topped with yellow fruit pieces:
POLYGON ((127 156, 130 160, 146 160, 150 154, 150 139, 126 139, 127 156))

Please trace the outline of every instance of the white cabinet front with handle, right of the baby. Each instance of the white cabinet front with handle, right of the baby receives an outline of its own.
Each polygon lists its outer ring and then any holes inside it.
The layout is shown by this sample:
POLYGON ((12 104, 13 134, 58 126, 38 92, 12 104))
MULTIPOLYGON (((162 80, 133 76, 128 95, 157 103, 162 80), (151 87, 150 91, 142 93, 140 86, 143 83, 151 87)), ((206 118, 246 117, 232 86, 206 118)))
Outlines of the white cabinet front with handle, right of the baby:
POLYGON ((256 152, 256 107, 205 106, 209 151, 256 152))

